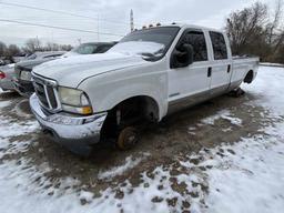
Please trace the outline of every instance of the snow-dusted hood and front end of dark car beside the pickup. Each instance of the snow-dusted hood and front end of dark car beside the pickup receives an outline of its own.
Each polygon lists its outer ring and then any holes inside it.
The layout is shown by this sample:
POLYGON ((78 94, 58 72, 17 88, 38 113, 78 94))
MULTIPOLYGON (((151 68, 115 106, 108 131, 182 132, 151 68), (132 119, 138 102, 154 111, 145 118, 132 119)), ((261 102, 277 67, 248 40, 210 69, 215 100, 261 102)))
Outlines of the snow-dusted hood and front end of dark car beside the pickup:
POLYGON ((60 58, 65 51, 49 51, 49 52, 36 52, 24 60, 16 63, 13 84, 17 92, 23 97, 29 97, 33 93, 33 87, 31 82, 31 70, 41 63, 60 58))

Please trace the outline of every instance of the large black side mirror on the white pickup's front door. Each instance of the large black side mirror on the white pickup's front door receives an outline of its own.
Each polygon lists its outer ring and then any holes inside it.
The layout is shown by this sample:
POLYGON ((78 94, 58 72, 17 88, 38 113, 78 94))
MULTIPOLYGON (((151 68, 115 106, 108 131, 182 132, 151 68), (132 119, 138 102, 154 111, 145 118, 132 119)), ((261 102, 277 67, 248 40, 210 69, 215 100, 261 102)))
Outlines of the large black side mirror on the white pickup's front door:
POLYGON ((172 53, 171 68, 186 68, 193 63, 193 48, 191 44, 183 43, 176 47, 172 53))

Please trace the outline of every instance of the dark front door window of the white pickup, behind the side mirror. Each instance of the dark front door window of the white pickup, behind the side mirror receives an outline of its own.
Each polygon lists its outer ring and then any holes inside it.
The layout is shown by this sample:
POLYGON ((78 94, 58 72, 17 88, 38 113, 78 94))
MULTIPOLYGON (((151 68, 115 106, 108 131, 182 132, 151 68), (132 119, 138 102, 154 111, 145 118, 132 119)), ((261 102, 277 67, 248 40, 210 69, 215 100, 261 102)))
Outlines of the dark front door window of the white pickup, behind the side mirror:
POLYGON ((186 43, 193 48, 193 61, 207 61, 207 47, 203 32, 190 31, 185 36, 186 43))

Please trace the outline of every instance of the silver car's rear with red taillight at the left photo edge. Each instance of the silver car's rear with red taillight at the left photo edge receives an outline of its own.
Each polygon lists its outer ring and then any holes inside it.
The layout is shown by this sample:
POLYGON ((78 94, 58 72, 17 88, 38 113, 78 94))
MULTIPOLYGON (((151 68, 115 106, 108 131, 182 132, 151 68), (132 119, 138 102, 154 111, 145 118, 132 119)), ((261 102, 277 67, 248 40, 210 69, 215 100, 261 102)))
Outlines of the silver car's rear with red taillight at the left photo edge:
POLYGON ((0 67, 0 88, 3 91, 14 90, 12 79, 14 78, 14 63, 0 67))

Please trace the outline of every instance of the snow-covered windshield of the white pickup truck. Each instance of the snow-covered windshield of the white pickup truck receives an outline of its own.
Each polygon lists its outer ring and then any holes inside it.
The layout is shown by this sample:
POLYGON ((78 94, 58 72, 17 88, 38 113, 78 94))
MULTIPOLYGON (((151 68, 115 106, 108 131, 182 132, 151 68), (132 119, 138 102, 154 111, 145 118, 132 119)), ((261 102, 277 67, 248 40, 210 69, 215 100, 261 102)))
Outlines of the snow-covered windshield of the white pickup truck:
POLYGON ((110 49, 110 52, 141 54, 145 60, 158 60, 166 53, 179 30, 179 27, 164 27, 134 31, 110 49))

